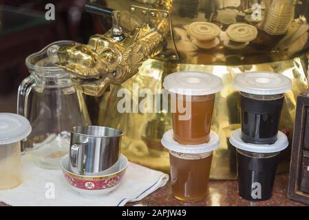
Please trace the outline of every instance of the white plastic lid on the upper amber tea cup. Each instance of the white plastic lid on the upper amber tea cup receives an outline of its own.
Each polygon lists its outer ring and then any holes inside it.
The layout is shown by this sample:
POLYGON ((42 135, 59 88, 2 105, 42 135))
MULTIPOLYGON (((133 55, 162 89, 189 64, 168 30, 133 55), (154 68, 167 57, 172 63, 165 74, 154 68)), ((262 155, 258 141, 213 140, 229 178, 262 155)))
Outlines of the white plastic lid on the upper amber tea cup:
POLYGON ((164 78, 163 87, 175 94, 204 96, 222 89, 222 80, 203 72, 176 72, 164 78))

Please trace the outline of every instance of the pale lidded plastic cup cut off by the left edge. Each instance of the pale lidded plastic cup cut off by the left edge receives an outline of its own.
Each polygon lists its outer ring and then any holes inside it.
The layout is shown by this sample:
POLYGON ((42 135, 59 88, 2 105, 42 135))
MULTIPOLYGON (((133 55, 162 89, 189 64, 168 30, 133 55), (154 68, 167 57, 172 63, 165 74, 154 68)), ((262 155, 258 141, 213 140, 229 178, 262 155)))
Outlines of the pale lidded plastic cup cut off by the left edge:
POLYGON ((31 132, 21 115, 0 113, 0 190, 21 184, 21 140, 31 132))

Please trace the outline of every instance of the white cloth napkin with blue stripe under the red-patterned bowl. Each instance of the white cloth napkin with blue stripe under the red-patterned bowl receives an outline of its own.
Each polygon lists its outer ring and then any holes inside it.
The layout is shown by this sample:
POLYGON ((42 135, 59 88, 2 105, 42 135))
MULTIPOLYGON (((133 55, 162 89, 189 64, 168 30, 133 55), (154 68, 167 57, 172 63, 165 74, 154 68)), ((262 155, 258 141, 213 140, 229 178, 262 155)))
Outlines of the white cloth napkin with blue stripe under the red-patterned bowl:
POLYGON ((169 181, 167 174, 129 162, 116 190, 108 195, 82 197, 67 184, 62 170, 40 168, 25 156, 22 166, 23 183, 11 190, 0 190, 0 201, 10 206, 124 206, 128 201, 143 199, 169 181))

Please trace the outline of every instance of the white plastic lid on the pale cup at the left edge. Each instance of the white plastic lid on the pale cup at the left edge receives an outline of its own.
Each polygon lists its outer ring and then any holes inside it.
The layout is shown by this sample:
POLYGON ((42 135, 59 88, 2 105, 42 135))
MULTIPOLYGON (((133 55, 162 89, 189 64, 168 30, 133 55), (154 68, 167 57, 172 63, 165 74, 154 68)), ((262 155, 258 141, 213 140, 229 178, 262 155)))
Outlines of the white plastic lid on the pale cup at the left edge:
POLYGON ((30 122, 13 113, 0 113, 0 144, 19 142, 31 133, 30 122))

